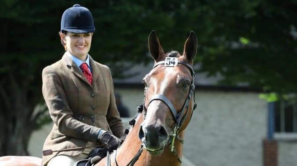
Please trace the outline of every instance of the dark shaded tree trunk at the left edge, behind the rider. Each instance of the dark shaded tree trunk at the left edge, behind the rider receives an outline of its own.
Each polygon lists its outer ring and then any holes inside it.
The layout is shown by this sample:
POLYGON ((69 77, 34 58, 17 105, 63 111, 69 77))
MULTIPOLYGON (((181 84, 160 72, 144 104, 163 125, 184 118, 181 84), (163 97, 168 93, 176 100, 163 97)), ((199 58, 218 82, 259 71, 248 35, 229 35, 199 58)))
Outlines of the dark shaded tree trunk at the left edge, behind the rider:
POLYGON ((0 81, 0 156, 30 155, 27 146, 31 133, 38 126, 37 116, 32 118, 38 102, 28 97, 30 88, 20 88, 11 73, 0 81))

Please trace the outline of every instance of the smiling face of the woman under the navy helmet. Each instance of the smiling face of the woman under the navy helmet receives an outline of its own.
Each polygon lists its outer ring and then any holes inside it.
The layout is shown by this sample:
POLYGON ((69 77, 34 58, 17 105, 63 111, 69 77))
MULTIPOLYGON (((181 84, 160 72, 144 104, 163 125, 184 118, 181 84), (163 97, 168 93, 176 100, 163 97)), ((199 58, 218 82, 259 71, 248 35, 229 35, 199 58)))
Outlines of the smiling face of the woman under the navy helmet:
POLYGON ((92 35, 93 33, 91 32, 86 34, 67 32, 66 35, 60 33, 61 39, 67 46, 67 51, 78 58, 87 55, 89 52, 91 48, 92 35))

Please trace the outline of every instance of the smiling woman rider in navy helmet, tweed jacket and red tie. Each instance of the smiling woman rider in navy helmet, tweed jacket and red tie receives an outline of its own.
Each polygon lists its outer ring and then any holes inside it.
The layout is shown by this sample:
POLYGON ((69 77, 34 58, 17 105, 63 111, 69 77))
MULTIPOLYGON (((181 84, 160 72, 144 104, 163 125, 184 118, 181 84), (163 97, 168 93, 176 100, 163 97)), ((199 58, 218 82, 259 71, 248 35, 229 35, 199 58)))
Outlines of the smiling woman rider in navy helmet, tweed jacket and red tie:
POLYGON ((72 166, 94 146, 107 144, 112 151, 120 142, 124 128, 110 70, 88 54, 94 31, 87 8, 76 4, 64 11, 59 34, 66 52, 42 71, 42 93, 53 120, 43 145, 42 165, 72 166))

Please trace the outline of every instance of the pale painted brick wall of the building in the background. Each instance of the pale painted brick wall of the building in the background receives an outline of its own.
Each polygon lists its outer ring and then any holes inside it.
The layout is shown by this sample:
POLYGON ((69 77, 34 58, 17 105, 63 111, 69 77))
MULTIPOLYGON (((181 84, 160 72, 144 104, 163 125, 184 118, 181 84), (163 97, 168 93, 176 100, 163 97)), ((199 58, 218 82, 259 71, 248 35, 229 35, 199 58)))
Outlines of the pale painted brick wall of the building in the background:
MULTIPOLYGON (((143 103, 143 89, 115 88, 115 92, 120 93, 133 117, 137 106, 143 103)), ((253 92, 196 91, 198 106, 186 131, 183 155, 197 166, 261 166, 262 140, 267 130, 267 102, 258 95, 253 92)), ((29 143, 32 156, 41 157, 42 145, 51 126, 33 133, 29 143)), ((287 159, 296 161, 293 159, 296 148, 289 148, 292 155, 287 156, 285 146, 279 144, 279 163, 284 163, 280 166, 288 165, 285 163, 287 159)))

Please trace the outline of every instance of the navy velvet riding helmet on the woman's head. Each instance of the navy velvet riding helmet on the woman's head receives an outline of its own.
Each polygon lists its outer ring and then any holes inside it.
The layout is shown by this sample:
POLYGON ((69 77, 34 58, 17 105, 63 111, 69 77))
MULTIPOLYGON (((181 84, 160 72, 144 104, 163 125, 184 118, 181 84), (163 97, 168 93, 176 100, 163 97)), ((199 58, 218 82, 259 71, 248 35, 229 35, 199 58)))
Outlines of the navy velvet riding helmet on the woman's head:
POLYGON ((61 18, 61 32, 89 33, 95 31, 94 18, 89 9, 79 4, 64 11, 61 18))

